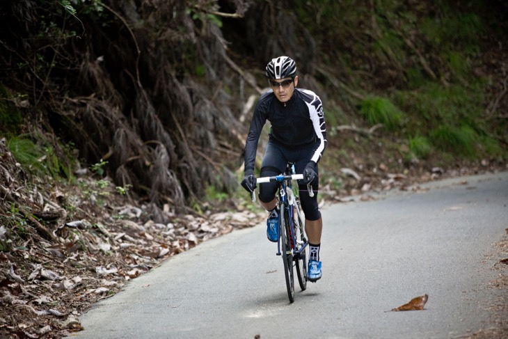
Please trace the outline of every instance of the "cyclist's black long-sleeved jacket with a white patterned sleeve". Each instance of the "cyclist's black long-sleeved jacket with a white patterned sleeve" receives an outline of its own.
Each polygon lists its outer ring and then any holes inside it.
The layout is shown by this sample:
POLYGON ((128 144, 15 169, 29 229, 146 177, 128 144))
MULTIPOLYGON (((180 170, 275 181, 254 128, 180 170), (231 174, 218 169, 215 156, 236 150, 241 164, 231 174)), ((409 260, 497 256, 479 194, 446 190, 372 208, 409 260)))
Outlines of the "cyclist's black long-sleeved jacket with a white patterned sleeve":
POLYGON ((290 148, 315 145, 311 160, 316 164, 326 148, 326 125, 323 105, 311 90, 295 88, 287 102, 278 101, 269 90, 261 95, 254 109, 245 144, 245 174, 254 173, 257 142, 264 124, 269 120, 271 141, 290 148))

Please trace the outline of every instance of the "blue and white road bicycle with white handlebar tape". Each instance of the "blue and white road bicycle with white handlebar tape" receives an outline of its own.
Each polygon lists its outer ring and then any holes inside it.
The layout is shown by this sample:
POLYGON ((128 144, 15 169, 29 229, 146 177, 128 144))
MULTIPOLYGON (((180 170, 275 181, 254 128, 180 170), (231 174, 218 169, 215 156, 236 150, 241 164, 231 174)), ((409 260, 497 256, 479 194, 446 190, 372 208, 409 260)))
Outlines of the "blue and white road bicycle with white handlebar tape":
MULTIPOLYGON (((301 212, 298 185, 292 187, 292 180, 303 179, 303 174, 294 173, 294 164, 286 166, 284 174, 273 177, 257 178, 257 184, 264 182, 277 183, 277 205, 279 218, 279 238, 277 241, 277 255, 281 255, 284 262, 287 295, 290 302, 294 302, 294 270, 302 291, 307 288, 307 246, 308 240, 305 235, 305 222, 301 212)), ((312 186, 307 185, 308 194, 312 197, 312 186)), ((251 198, 255 201, 255 191, 251 192, 251 198)))

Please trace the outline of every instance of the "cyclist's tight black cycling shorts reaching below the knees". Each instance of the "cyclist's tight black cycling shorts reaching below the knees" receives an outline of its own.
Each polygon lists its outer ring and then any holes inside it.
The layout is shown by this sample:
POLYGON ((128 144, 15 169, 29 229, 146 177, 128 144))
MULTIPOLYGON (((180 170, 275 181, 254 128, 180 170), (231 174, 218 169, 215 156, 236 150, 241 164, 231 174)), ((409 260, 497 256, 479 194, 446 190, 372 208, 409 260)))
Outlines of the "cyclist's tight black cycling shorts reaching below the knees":
MULTIPOLYGON (((310 145, 308 148, 294 150, 269 141, 261 163, 260 176, 271 177, 284 173, 288 162, 294 163, 296 174, 302 174, 305 166, 307 166, 314 154, 314 149, 314 145, 310 145)), ((308 194, 307 185, 302 184, 301 180, 298 180, 301 208, 305 214, 305 219, 309 221, 316 221, 321 218, 321 212, 319 212, 319 207, 317 206, 317 192, 319 189, 319 168, 317 166, 316 173, 316 178, 312 181, 312 190, 315 193, 312 198, 308 194)), ((263 203, 269 203, 275 198, 277 193, 276 182, 259 184, 259 187, 259 198, 263 203)))

